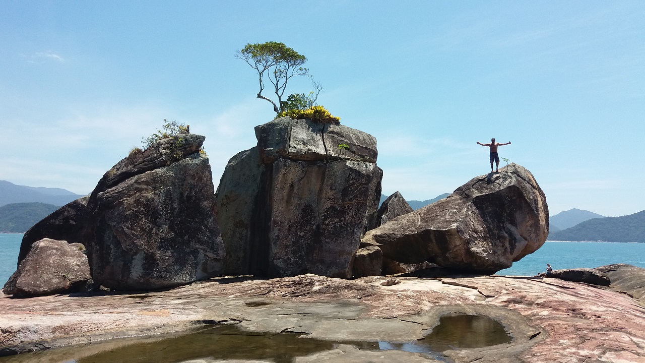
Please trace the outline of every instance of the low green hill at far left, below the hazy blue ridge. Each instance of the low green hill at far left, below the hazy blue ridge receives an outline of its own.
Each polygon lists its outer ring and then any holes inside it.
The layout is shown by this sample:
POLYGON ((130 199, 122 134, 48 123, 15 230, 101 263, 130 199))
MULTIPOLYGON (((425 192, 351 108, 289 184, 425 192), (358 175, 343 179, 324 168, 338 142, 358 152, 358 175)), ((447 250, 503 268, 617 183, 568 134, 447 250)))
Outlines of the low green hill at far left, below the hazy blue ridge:
POLYGON ((11 203, 0 207, 0 232, 23 233, 60 207, 46 203, 11 203))

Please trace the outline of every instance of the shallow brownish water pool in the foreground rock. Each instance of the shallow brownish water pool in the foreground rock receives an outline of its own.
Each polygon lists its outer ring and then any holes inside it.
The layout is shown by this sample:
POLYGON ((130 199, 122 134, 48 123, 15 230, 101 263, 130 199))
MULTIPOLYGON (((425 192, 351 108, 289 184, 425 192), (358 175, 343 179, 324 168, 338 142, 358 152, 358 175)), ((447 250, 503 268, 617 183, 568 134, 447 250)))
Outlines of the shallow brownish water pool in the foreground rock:
POLYGON ((269 360, 292 363, 295 357, 328 351, 338 344, 364 350, 402 350, 451 362, 441 355, 448 349, 467 349, 510 342, 504 326, 487 316, 446 315, 424 339, 414 342, 332 342, 300 338, 293 333, 252 333, 235 325, 204 327, 177 337, 97 342, 0 358, 0 363, 179 363, 186 360, 269 360))

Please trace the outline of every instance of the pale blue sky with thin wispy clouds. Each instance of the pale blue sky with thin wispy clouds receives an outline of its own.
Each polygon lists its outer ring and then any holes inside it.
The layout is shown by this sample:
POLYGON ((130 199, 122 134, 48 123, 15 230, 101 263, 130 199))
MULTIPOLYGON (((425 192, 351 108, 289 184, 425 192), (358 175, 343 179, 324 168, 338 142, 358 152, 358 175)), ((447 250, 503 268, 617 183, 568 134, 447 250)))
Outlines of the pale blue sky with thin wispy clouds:
POLYGON ((384 194, 452 192, 494 137, 551 215, 645 209, 645 1, 1 1, 0 180, 86 194, 173 119, 217 186, 275 116, 234 57, 265 41, 377 138, 384 194))

